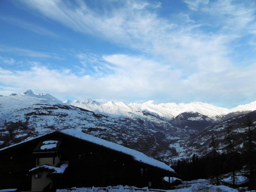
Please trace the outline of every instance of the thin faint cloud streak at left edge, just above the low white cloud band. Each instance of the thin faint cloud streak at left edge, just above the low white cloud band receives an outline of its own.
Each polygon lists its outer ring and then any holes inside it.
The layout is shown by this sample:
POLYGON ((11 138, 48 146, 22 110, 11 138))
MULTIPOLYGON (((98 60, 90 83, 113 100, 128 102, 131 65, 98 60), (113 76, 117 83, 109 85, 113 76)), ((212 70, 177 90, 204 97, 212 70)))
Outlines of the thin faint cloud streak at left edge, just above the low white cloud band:
POLYGON ((61 57, 60 55, 55 54, 55 53, 37 52, 37 51, 30 50, 30 49, 24 49, 24 48, 20 48, 20 47, 12 47, 12 46, 4 45, 4 44, 0 44, 0 52, 10 52, 15 55, 36 57, 36 58, 52 58, 52 59, 58 59, 58 60, 63 59, 63 57, 61 57))

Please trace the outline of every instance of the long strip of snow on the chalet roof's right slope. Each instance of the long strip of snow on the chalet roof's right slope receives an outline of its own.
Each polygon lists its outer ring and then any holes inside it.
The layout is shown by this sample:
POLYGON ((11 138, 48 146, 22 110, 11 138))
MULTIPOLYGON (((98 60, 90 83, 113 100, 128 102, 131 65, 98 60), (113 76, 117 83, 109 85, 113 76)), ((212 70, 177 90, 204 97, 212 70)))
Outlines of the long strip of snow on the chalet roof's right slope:
POLYGON ((106 147, 106 148, 109 148, 109 149, 112 149, 112 150, 115 150, 115 151, 118 151, 121 153, 124 153, 126 155, 130 155, 136 161, 139 161, 139 162, 142 162, 142 163, 145 163, 148 165, 152 165, 154 167, 158 167, 158 168, 170 171, 170 172, 174 172, 174 170, 171 167, 164 164, 163 162, 157 161, 156 159, 150 158, 139 151, 124 147, 122 145, 118 145, 116 143, 112 143, 110 141, 103 140, 98 137, 94 137, 92 135, 83 133, 81 131, 76 131, 74 129, 65 129, 65 130, 61 130, 60 132, 70 135, 70 136, 73 136, 73 137, 76 137, 76 138, 79 138, 81 140, 85 140, 85 141, 88 141, 88 142, 91 142, 91 143, 94 143, 94 144, 97 144, 97 145, 100 145, 100 146, 103 146, 103 147, 106 147))

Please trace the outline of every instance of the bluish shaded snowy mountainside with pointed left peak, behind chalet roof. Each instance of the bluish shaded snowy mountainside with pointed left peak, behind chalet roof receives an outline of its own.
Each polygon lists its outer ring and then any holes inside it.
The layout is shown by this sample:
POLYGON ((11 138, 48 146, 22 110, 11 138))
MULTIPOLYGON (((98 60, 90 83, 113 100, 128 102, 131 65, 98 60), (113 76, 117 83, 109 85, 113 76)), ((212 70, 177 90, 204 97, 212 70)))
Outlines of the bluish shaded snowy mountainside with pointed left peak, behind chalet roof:
POLYGON ((102 108, 110 108, 109 111, 118 114, 120 109, 123 111, 124 108, 126 110, 130 108, 122 102, 108 102, 101 105, 92 100, 72 101, 72 103, 77 102, 79 107, 68 105, 68 102, 60 103, 49 94, 35 94, 32 91, 16 96, 0 97, 0 148, 56 129, 72 128, 139 150, 149 156, 161 157, 173 155, 172 148, 169 148, 170 142, 188 138, 188 132, 144 111, 139 111, 137 114, 131 113, 129 117, 112 118, 108 113, 98 113, 97 110, 81 108, 84 104, 89 106, 90 103, 94 106, 93 108, 99 106, 98 111, 102 108), (19 121, 28 128, 18 123, 19 127, 16 127, 13 132, 13 138, 8 140, 7 124, 19 121), (167 144, 159 149, 158 146, 163 142, 167 144))

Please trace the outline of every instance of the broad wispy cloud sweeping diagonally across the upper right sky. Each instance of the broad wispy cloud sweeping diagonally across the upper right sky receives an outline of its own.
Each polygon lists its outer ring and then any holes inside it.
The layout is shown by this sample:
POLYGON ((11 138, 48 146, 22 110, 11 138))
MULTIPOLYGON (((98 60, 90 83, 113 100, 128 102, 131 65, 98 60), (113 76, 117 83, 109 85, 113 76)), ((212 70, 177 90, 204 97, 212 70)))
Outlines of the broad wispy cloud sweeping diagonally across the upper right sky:
POLYGON ((157 14, 158 6, 140 1, 122 1, 121 6, 109 5, 108 2, 103 11, 88 7, 83 1, 73 6, 64 1, 28 0, 24 3, 75 31, 167 58, 173 66, 193 65, 196 70, 202 69, 206 60, 209 60, 208 66, 219 66, 219 61, 229 63, 230 44, 246 34, 247 28, 255 32, 251 25, 252 21, 255 23, 254 6, 245 8, 244 4, 228 0, 185 2, 191 9, 210 15, 209 20, 195 21, 185 13, 167 20, 157 14), (177 18, 180 19, 177 21, 177 18), (221 23, 221 28, 212 26, 215 32, 209 33, 203 28, 209 27, 207 21, 221 23))

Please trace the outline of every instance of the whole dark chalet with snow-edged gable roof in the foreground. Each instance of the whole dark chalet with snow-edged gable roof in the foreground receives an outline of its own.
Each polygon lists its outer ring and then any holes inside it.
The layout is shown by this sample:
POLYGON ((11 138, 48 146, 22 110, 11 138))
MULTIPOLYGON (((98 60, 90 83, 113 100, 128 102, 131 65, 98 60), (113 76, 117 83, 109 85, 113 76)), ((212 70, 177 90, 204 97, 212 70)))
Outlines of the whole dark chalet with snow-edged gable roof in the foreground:
POLYGON ((51 132, 0 149, 0 189, 128 185, 162 188, 171 167, 143 153, 74 129, 51 132))

